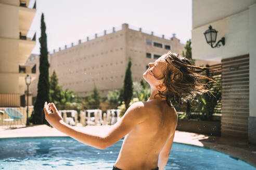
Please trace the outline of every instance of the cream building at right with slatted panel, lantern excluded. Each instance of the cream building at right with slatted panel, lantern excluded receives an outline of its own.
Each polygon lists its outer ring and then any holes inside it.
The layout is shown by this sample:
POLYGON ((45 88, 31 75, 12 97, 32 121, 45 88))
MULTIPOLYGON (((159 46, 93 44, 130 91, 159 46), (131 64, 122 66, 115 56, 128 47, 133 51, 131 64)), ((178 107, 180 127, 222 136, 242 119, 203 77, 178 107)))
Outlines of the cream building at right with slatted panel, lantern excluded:
POLYGON ((256 144, 256 1, 193 0, 193 58, 222 62, 222 135, 256 144), (225 45, 211 48, 209 26, 225 45))

